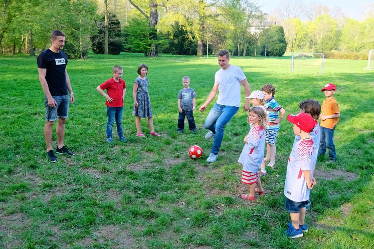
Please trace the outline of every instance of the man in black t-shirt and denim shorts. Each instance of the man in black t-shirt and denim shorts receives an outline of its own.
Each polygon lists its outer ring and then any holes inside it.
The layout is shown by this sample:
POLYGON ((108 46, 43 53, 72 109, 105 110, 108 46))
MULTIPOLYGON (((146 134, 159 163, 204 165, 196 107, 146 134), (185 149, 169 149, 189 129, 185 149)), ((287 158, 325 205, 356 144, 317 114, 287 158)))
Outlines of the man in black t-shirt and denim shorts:
POLYGON ((46 123, 44 125, 44 139, 47 145, 48 158, 56 162, 52 148, 52 129, 57 119, 56 152, 74 154, 64 146, 65 123, 69 113, 69 102, 74 102, 74 93, 70 85, 66 65, 68 58, 62 51, 65 45, 65 34, 59 30, 51 33, 51 48, 43 51, 37 58, 39 81, 45 94, 46 123), (69 91, 69 95, 68 95, 69 91))

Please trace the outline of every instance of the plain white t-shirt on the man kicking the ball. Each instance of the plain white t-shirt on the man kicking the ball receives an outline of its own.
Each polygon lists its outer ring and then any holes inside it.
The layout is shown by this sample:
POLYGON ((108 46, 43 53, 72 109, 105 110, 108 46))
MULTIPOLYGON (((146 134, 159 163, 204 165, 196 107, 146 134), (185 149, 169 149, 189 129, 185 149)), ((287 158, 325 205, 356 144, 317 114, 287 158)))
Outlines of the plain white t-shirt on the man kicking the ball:
POLYGON ((226 70, 218 70, 214 77, 214 84, 220 84, 217 104, 240 107, 240 82, 245 78, 238 66, 230 65, 226 70))

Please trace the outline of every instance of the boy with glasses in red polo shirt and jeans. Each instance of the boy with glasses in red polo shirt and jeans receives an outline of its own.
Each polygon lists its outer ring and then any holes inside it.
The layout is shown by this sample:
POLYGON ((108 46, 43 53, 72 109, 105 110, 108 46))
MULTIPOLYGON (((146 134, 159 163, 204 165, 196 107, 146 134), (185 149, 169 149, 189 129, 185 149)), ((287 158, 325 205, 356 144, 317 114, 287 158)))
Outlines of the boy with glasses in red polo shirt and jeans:
POLYGON ((123 69, 121 66, 114 66, 112 73, 112 78, 96 88, 106 99, 105 105, 107 105, 108 115, 108 122, 106 124, 106 141, 108 143, 113 142, 112 129, 115 119, 118 137, 122 142, 126 142, 122 129, 123 98, 126 93, 126 83, 121 79, 123 75, 123 69), (107 94, 104 92, 105 89, 107 94))

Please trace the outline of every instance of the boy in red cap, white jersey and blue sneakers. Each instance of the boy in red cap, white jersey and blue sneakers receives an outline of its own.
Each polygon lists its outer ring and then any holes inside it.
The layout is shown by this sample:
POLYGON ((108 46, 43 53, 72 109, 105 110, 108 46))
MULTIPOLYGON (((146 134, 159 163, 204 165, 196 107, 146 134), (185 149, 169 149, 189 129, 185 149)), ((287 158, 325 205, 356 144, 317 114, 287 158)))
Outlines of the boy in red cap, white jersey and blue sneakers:
POLYGON ((314 128, 314 119, 307 113, 288 115, 287 120, 293 124, 293 132, 300 136, 294 143, 288 158, 284 195, 286 209, 290 213, 291 222, 286 230, 290 238, 299 238, 308 228, 305 224, 306 204, 309 201, 309 190, 313 188, 315 180, 312 176, 312 148, 313 140, 309 132, 314 128))

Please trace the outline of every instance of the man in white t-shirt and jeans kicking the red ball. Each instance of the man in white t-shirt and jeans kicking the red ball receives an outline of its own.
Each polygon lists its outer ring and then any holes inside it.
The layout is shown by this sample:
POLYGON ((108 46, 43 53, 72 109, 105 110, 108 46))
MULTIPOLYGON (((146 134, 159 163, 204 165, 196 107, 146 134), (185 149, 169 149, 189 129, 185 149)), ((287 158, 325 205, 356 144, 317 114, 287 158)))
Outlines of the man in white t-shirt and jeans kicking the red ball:
MULTIPOLYGON (((249 84, 246 76, 240 67, 231 65, 229 63, 229 51, 221 50, 218 53, 218 64, 221 69, 217 71, 214 80, 214 86, 208 95, 205 103, 199 108, 204 112, 207 106, 216 97, 219 91, 218 100, 209 112, 204 127, 210 132, 205 138, 209 139, 213 136, 214 142, 207 162, 217 161, 218 152, 221 147, 222 139, 224 137, 224 128, 227 123, 233 118, 235 113, 240 108, 240 85, 244 86, 245 96, 250 95, 249 84)), ((248 111, 250 107, 250 99, 245 99, 244 110, 248 111)))

